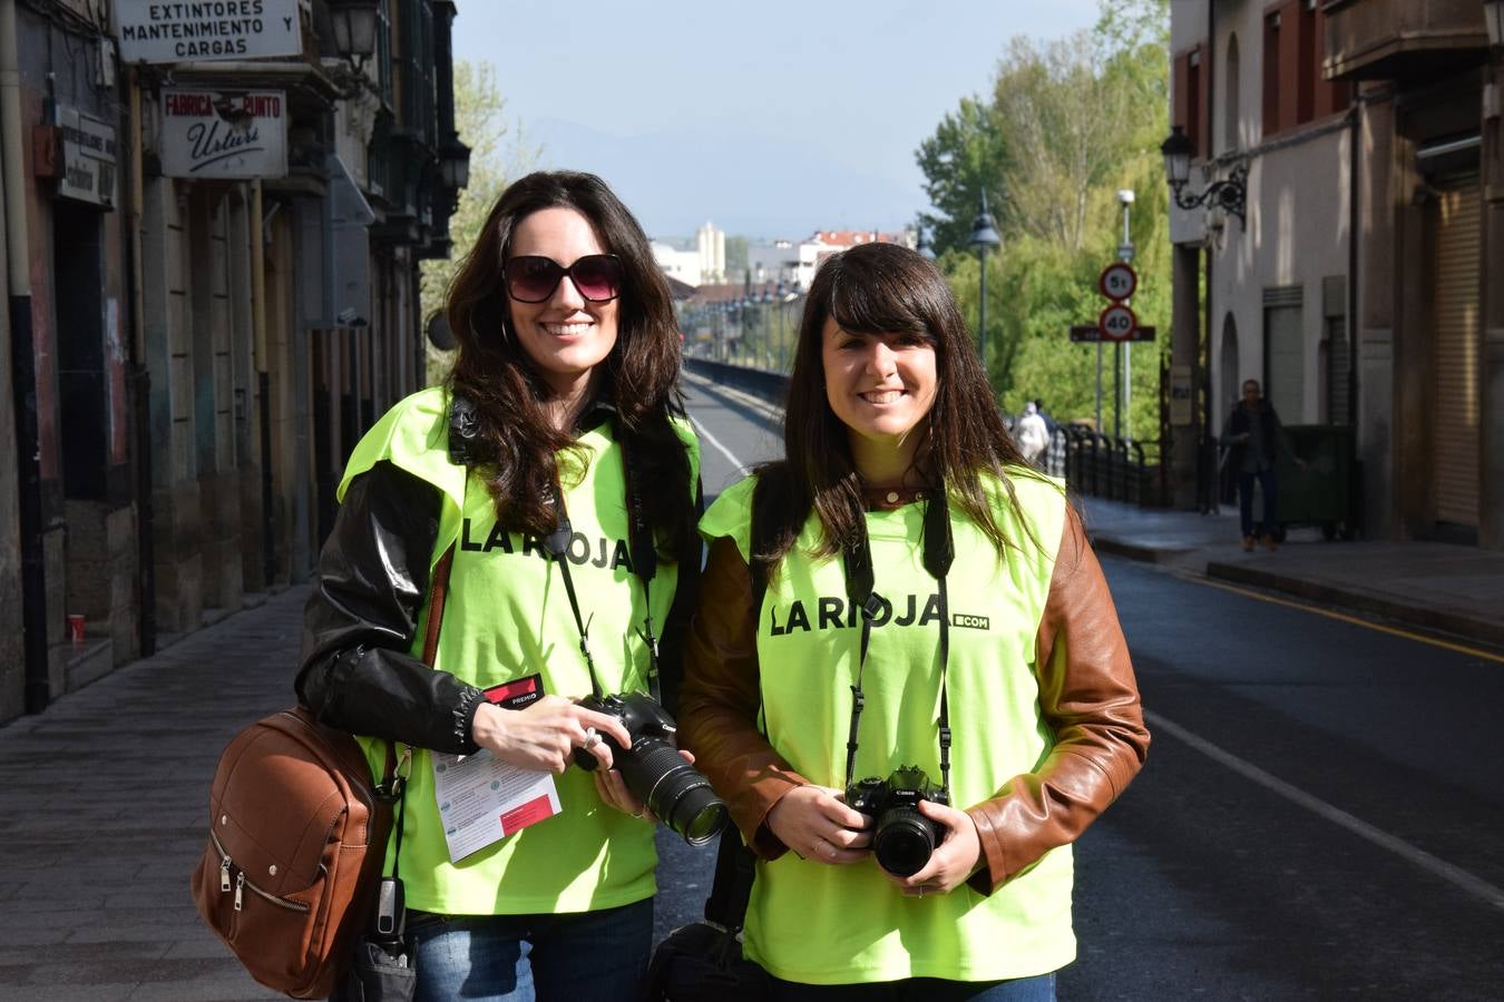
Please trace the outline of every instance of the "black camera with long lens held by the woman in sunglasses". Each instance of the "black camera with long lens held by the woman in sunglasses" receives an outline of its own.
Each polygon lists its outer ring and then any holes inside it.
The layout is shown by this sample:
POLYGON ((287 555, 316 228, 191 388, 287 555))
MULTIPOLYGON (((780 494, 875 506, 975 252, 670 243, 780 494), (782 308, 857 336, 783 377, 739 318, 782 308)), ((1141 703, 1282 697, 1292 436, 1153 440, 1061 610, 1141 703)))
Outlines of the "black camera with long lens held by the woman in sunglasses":
MULTIPOLYGON (((704 846, 720 834, 729 819, 726 805, 710 789, 710 780, 668 742, 677 729, 657 700, 642 693, 624 693, 590 696, 579 705, 615 717, 632 736, 632 747, 623 748, 611 735, 600 735, 611 745, 612 763, 633 796, 690 846, 704 846)), ((591 772, 600 760, 576 748, 575 765, 591 772)))

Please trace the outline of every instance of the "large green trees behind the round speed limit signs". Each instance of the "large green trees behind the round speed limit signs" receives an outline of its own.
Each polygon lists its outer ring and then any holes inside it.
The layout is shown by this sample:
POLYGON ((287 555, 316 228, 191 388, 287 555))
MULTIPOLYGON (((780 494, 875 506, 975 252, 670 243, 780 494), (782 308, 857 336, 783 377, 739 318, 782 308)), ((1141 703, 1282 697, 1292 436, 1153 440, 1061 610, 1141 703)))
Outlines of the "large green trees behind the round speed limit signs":
MULTIPOLYGON (((1014 39, 988 98, 963 98, 916 158, 935 209, 940 267, 976 323, 979 272, 966 246, 978 194, 1003 246, 987 257, 987 368, 1005 410, 1042 397, 1059 419, 1095 415, 1096 352, 1071 344, 1071 324, 1107 305, 1096 290, 1116 260, 1133 189, 1131 237, 1140 323, 1160 341, 1133 349, 1128 434, 1158 437, 1161 355, 1169 352, 1170 248, 1158 144, 1169 132, 1169 0, 1102 0, 1096 26, 1053 42, 1014 39)), ((1104 350, 1104 424, 1111 424, 1113 359, 1104 350)))

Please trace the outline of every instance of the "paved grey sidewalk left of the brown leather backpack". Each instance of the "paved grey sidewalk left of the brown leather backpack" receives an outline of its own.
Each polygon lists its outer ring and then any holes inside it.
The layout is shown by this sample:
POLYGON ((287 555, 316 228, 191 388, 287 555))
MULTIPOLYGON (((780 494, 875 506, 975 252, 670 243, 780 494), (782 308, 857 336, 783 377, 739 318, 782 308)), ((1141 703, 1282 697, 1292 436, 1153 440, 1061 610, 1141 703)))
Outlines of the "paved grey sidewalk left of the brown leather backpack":
POLYGON ((0 999, 281 999, 194 910, 209 781, 293 702, 307 586, 0 727, 0 999))

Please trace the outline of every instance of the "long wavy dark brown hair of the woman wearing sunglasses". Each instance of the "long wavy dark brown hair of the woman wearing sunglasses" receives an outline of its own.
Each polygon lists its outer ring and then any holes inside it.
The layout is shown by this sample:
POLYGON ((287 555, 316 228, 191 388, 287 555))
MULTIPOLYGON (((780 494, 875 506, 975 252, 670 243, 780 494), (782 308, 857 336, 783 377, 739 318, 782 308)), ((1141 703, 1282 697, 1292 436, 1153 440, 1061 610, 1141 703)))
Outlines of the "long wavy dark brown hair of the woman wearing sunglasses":
POLYGON ((668 503, 644 505, 642 515, 663 556, 674 559, 695 541, 689 457, 669 424, 671 415, 683 413, 678 324, 647 234, 600 177, 538 171, 501 192, 448 290, 448 321, 459 343, 448 389, 475 407, 475 442, 487 457, 486 488, 501 523, 532 535, 552 532, 556 454, 579 454, 570 433, 549 421, 547 385, 511 330, 502 264, 517 222, 555 207, 585 216, 605 251, 621 258, 617 344, 602 362, 599 400, 617 409, 635 476, 665 485, 654 494, 668 503))

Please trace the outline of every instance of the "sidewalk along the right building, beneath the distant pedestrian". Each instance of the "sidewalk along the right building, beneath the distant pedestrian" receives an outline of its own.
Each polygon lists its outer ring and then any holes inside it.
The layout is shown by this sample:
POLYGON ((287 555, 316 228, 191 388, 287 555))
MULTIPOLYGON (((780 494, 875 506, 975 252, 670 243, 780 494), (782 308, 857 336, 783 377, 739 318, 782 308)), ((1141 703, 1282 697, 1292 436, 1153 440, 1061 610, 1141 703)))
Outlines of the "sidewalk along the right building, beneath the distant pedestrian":
POLYGON ((1504 553, 1442 542, 1328 542, 1316 529, 1292 530, 1274 553, 1244 553, 1235 508, 1202 515, 1099 497, 1081 505, 1101 553, 1504 646, 1504 553))

